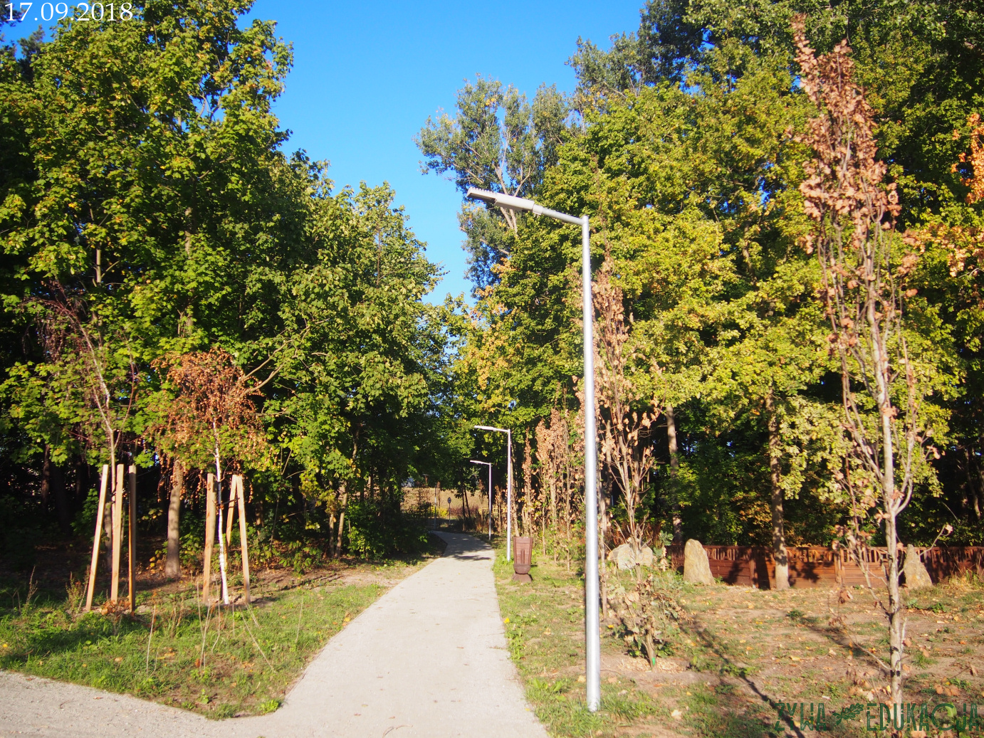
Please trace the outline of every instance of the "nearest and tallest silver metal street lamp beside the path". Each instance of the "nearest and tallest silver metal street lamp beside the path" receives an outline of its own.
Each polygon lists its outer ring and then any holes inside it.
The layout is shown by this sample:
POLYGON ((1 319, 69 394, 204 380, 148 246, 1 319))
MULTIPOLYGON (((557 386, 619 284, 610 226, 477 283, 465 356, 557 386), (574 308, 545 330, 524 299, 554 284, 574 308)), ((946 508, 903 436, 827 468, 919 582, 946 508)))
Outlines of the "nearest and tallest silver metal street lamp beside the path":
MULTIPOLYGON (((591 247, 587 215, 558 213, 532 200, 469 187, 467 197, 511 211, 546 215, 581 225, 581 278, 584 303, 584 637, 586 651, 587 708, 594 712, 601 702, 601 642, 598 636, 598 496, 597 431, 594 425, 594 309, 591 304, 591 247)), ((510 455, 512 483, 512 454, 510 455)))

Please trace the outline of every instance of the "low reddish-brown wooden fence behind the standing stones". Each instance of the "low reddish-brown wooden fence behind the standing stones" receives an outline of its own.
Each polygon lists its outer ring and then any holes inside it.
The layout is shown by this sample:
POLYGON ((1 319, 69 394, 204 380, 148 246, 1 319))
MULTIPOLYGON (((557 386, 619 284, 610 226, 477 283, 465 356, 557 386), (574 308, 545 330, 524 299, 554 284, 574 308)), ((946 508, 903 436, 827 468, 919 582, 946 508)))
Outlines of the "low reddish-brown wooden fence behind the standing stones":
MULTIPOLYGON (((682 545, 669 546, 673 567, 679 572, 683 572, 683 548, 682 545)), ((775 586, 775 562, 769 547, 707 545, 704 550, 707 551, 710 574, 725 584, 745 584, 760 589, 775 586)), ((834 551, 823 546, 790 546, 786 551, 790 586, 865 584, 858 562, 843 549, 834 551)), ((934 583, 965 572, 974 572, 984 579, 984 546, 917 547, 916 551, 922 554, 923 564, 934 583)), ((865 558, 872 584, 883 582, 887 572, 888 549, 869 548, 865 551, 865 558)))

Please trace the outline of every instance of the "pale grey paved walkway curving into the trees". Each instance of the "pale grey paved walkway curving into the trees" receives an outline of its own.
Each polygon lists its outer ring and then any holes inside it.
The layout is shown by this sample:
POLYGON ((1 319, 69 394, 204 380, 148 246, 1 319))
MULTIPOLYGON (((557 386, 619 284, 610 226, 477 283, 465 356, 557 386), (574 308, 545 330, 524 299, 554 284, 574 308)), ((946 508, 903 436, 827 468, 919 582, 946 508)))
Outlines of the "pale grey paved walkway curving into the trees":
POLYGON ((0 672, 0 738, 546 738, 509 659, 492 550, 470 535, 439 535, 448 542, 444 557, 349 623, 273 714, 216 722, 0 672))

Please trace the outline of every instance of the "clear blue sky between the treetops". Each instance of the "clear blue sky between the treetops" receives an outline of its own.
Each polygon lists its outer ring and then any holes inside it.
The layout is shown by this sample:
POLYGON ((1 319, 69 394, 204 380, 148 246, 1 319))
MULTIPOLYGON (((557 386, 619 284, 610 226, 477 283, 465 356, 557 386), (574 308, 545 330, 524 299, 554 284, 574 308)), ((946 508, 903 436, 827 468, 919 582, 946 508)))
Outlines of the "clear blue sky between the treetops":
POLYGON ((431 299, 469 296, 452 182, 420 173, 413 135, 476 73, 530 95, 541 82, 573 91, 565 61, 579 35, 607 47, 639 28, 645 0, 607 2, 277 2, 252 16, 277 21, 294 68, 277 101, 291 149, 332 162, 338 187, 387 181, 427 255, 448 275, 431 299))

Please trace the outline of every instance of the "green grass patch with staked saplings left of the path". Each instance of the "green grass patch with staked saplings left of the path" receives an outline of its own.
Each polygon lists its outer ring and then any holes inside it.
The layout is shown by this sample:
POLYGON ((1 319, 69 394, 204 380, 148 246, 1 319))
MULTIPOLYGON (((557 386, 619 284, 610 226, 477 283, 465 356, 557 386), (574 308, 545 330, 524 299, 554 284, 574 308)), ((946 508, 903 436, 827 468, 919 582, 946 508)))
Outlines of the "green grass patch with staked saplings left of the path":
POLYGON ((209 610, 189 586, 142 596, 150 612, 115 620, 97 612, 78 616, 52 600, 18 607, 15 598, 11 609, 0 609, 0 669, 215 718, 269 712, 346 619, 383 591, 378 584, 291 589, 249 609, 209 610))

